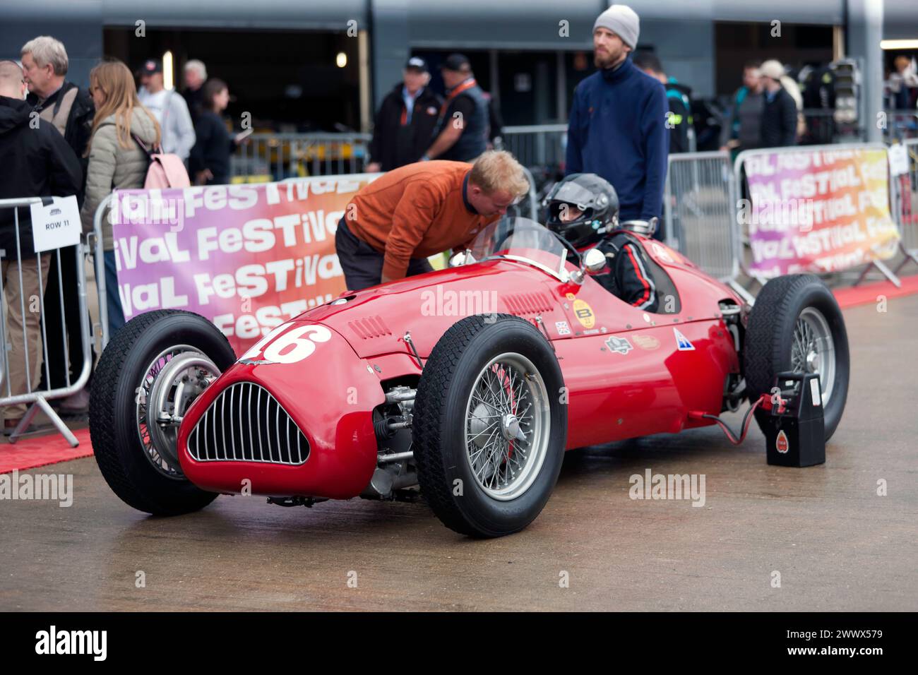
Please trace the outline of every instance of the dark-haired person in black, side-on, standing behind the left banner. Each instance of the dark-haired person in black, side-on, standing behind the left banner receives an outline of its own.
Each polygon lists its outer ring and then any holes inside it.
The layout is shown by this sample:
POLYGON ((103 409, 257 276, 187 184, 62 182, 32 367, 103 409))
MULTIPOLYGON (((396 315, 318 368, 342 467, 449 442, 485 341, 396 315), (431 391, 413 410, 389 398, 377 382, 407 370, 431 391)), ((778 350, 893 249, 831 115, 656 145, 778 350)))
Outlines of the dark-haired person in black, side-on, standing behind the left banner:
POLYGON ((203 98, 204 107, 195 123, 196 141, 188 158, 188 166, 198 186, 227 185, 229 155, 236 150, 244 136, 230 136, 221 116, 229 105, 229 88, 223 80, 207 80, 203 98))

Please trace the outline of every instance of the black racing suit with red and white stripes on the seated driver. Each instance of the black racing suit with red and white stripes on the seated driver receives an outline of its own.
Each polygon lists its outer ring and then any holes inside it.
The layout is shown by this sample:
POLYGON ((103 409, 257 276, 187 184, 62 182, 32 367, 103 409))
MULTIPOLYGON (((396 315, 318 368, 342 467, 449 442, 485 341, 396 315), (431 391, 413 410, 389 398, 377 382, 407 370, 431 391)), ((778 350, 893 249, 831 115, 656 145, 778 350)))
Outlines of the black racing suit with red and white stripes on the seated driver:
POLYGON ((596 248, 606 254, 606 267, 593 278, 616 298, 637 309, 657 309, 656 287, 644 251, 623 231, 603 237, 596 248))

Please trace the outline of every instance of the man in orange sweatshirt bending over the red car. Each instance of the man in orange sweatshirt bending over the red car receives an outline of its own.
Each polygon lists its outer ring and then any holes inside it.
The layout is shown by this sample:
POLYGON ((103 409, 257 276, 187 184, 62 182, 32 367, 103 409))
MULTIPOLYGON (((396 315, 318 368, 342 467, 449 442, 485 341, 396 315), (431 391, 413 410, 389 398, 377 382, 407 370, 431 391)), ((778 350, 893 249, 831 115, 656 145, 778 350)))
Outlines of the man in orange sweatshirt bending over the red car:
POLYGON ((388 172, 354 195, 338 223, 335 249, 348 289, 430 272, 429 255, 465 247, 528 191, 509 152, 388 172))

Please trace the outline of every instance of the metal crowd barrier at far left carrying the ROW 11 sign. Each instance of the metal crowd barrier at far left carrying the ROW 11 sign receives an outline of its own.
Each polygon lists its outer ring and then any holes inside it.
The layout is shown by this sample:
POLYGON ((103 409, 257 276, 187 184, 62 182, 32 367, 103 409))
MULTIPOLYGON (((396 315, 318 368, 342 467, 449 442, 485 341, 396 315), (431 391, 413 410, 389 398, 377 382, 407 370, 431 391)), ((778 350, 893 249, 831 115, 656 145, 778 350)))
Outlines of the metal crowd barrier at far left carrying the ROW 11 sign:
MULTIPOLYGON (((16 229, 16 246, 17 250, 15 252, 15 258, 10 256, 7 251, 2 251, 4 270, 3 274, 0 275, 0 303, 3 305, 3 312, 0 314, 0 345, 3 349, 3 384, 0 385, 0 408, 6 407, 9 405, 15 405, 18 403, 28 404, 28 409, 23 415, 21 421, 17 424, 16 428, 10 434, 9 441, 10 443, 15 443, 18 437, 28 428, 28 425, 32 422, 35 415, 40 411, 43 411, 58 429, 62 433, 64 438, 67 439, 67 442, 73 447, 76 447, 79 442, 76 440, 76 437, 67 428, 67 425, 62 422, 61 418, 58 416, 48 403, 49 399, 62 399, 64 397, 75 394, 84 388, 86 382, 89 380, 89 373, 92 368, 92 357, 90 355, 90 330, 89 330, 89 312, 86 308, 86 278, 85 278, 85 267, 84 267, 84 252, 85 247, 84 243, 81 242, 76 247, 76 269, 77 269, 77 295, 79 298, 79 311, 80 311, 80 320, 79 326, 75 327, 70 325, 70 330, 78 328, 81 332, 83 338, 83 354, 68 354, 68 341, 67 341, 67 317, 65 316, 64 307, 63 307, 63 280, 61 276, 61 250, 57 249, 53 252, 40 253, 36 255, 33 259, 22 258, 22 247, 19 241, 19 208, 29 208, 32 204, 41 204, 43 202, 41 197, 25 197, 22 199, 0 199, 0 209, 12 208, 14 209, 14 226, 16 229), (46 279, 43 278, 41 270, 41 258, 43 256, 57 256, 57 270, 58 270, 58 292, 60 294, 60 303, 61 303, 61 325, 62 325, 62 344, 63 344, 63 363, 68 367, 65 368, 64 373, 64 382, 65 387, 59 388, 50 388, 51 382, 51 373, 50 366, 48 363, 48 332, 46 328, 46 318, 45 318, 45 287, 46 279), (15 271, 14 271, 15 265, 15 271), (24 287, 24 277, 23 270, 34 265, 37 273, 37 285, 34 287, 24 287), (20 289, 18 306, 9 306, 9 303, 6 300, 6 286, 7 286, 7 275, 13 271, 17 275, 18 286, 20 289), (27 298, 28 296, 28 298, 27 298), (35 301, 38 300, 38 308, 34 307, 35 301), (26 318, 28 316, 27 312, 33 312, 35 309, 38 309, 39 314, 39 327, 38 335, 35 336, 38 339, 36 340, 33 337, 33 340, 30 342, 28 339, 28 329, 26 327, 26 318), (10 342, 11 339, 18 341, 19 336, 17 334, 7 331, 8 319, 10 313, 17 313, 21 317, 22 329, 21 329, 21 343, 23 358, 25 359, 25 383, 23 387, 25 391, 13 392, 13 384, 10 377, 10 352, 13 350, 13 343, 10 342), (43 368, 45 382, 47 384, 46 388, 33 388, 33 380, 37 380, 38 377, 35 377, 37 374, 32 372, 30 366, 31 359, 29 354, 35 356, 35 350, 39 351, 39 369, 43 368), (82 358, 83 366, 80 370, 80 376, 76 378, 76 381, 71 381, 70 377, 70 359, 71 358, 82 358)), ((27 252, 31 253, 31 252, 27 252)), ((72 283, 72 280, 68 279, 68 283, 72 283)), ((19 387, 17 387, 19 388, 19 387)))

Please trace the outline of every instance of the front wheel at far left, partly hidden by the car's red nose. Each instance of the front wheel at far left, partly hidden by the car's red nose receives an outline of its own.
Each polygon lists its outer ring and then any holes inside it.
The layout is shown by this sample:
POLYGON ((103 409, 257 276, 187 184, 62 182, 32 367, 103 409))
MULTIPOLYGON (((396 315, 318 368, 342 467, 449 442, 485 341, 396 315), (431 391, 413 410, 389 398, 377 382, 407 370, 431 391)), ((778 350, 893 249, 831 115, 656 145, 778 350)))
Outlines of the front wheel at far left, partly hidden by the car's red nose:
MULTIPOLYGON (((215 377, 236 356, 226 337, 210 321, 174 309, 151 311, 131 319, 99 358, 89 399, 89 433, 95 461, 115 494, 139 511, 178 515, 202 509, 217 497, 196 488, 182 474, 177 460, 171 458, 175 456, 177 426, 152 428, 154 424, 148 417, 151 392, 164 384, 162 378, 158 380, 164 369, 169 372, 170 364, 180 366, 182 360, 196 363, 208 359, 216 368, 189 366, 186 371, 201 377, 201 388, 207 386, 205 369, 216 370, 209 373, 209 377, 215 377)), ((175 387, 165 388, 166 393, 176 391, 175 387)), ((183 389, 181 407, 169 402, 171 411, 182 413, 190 402, 191 389, 183 389)))

